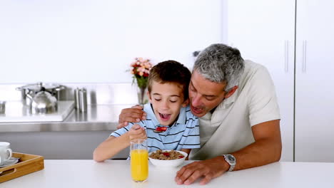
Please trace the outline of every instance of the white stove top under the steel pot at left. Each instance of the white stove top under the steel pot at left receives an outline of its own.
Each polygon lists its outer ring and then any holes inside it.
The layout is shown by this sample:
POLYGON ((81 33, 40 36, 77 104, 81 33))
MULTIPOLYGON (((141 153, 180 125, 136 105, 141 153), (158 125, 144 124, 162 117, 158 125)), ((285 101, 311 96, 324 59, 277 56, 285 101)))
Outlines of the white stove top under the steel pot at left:
POLYGON ((58 101, 58 110, 55 113, 33 115, 28 106, 21 101, 7 101, 6 112, 0 114, 0 122, 59 122, 63 121, 71 110, 74 109, 74 101, 58 101))

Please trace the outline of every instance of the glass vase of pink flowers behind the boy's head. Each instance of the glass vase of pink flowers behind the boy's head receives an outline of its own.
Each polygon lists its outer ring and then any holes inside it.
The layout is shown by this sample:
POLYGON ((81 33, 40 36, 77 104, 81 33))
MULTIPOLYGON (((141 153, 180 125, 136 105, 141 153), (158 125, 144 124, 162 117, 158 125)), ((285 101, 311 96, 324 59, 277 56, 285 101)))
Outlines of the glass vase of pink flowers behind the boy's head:
POLYGON ((131 63, 131 74, 133 75, 132 83, 137 84, 138 88, 138 103, 143 105, 148 102, 147 83, 148 75, 152 68, 152 63, 149 59, 135 58, 131 63))

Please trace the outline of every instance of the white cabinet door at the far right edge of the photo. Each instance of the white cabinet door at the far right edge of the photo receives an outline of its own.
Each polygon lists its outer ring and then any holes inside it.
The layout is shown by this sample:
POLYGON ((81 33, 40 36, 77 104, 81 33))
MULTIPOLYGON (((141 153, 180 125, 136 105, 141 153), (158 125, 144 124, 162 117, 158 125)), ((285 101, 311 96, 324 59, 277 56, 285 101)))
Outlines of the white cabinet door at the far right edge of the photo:
POLYGON ((334 1, 298 1, 295 161, 334 162, 334 1))

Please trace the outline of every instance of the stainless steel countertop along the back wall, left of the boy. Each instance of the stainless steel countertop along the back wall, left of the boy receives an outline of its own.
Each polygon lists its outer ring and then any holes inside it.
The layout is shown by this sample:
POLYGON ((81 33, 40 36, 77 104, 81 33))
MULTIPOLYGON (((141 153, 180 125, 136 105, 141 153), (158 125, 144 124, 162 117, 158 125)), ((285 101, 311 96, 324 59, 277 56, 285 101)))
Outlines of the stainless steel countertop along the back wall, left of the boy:
POLYGON ((133 105, 88 105, 86 113, 72 110, 69 116, 60 122, 1 122, 0 118, 0 133, 116 130, 121 110, 133 105))

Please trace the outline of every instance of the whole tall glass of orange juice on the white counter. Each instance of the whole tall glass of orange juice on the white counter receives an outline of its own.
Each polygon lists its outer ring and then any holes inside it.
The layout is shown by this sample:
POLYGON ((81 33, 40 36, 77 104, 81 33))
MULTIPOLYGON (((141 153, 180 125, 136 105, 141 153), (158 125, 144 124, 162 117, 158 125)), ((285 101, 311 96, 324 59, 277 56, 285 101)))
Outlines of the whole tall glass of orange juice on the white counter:
POLYGON ((145 182, 148 177, 148 150, 146 140, 130 143, 131 177, 134 182, 145 182))

